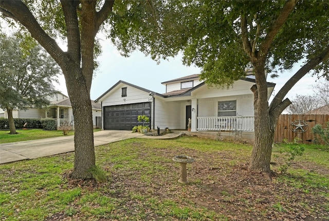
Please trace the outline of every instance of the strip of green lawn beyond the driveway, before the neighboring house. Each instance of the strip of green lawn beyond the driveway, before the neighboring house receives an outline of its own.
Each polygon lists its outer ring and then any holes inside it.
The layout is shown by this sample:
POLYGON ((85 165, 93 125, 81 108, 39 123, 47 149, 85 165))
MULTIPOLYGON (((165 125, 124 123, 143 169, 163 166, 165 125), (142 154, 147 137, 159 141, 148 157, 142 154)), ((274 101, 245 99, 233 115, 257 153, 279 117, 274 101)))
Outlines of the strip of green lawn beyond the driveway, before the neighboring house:
MULTIPOLYGON (((100 129, 94 130, 94 132, 95 131, 100 131, 100 129)), ((18 129, 16 130, 16 132, 18 134, 9 134, 9 130, 0 131, 0 143, 11 143, 18 141, 37 140, 43 138, 64 136, 62 131, 46 131, 42 129, 18 129)), ((74 135, 74 131, 70 131, 68 136, 69 135, 74 135)))

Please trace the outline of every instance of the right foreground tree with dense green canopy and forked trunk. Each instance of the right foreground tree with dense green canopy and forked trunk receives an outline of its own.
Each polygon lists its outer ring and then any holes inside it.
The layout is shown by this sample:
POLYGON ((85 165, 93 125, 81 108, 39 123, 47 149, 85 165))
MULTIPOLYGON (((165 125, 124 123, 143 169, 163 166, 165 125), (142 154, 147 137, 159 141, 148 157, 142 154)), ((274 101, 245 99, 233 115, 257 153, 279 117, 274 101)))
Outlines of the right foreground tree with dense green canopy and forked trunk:
MULTIPOLYGON (((164 22, 168 47, 184 51, 185 64, 203 68, 208 84, 230 85, 252 69, 255 85, 255 141, 249 169, 270 174, 273 136, 284 99, 305 74, 328 79, 329 3, 327 1, 168 1, 164 22), (170 22, 169 22, 170 21, 170 22), (268 74, 302 62, 301 68, 268 104, 268 74)), ((161 47, 159 47, 161 53, 161 47)))

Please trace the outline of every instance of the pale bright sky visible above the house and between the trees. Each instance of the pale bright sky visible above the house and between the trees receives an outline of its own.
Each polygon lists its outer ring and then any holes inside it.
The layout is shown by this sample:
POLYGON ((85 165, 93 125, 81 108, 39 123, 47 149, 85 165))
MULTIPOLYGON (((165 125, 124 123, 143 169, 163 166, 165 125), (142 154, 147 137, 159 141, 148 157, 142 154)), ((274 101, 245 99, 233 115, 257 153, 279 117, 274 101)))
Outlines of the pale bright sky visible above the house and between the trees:
MULTIPOLYGON (((99 68, 95 71, 90 90, 90 98, 92 100, 99 98, 120 80, 162 94, 166 92, 166 86, 162 85, 161 82, 194 75, 195 73, 200 73, 201 70, 195 66, 188 67, 183 65, 181 54, 175 58, 170 58, 168 61, 161 60, 160 64, 157 64, 156 61, 153 61, 150 57, 145 57, 139 51, 133 52, 128 58, 123 57, 109 40, 102 40, 101 44, 103 52, 97 59, 99 68)), ((300 65, 297 64, 291 70, 280 73, 280 77, 275 79, 268 77, 268 82, 276 83, 273 95, 278 93, 280 88, 294 75, 299 67, 300 65)), ((313 94, 312 86, 316 83, 316 79, 316 77, 307 74, 289 91, 287 97, 291 100, 296 94, 313 94)), ((63 76, 61 76, 60 82, 61 84, 57 85, 57 89, 67 95, 63 76)))

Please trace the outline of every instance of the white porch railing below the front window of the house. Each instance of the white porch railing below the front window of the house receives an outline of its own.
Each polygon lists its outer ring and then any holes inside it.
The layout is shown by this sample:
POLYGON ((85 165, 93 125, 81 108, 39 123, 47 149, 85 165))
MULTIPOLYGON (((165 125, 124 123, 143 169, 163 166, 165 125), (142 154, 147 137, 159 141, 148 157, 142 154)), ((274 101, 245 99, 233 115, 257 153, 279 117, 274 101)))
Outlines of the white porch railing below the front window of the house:
POLYGON ((253 121, 253 116, 197 117, 197 131, 253 132, 253 121))

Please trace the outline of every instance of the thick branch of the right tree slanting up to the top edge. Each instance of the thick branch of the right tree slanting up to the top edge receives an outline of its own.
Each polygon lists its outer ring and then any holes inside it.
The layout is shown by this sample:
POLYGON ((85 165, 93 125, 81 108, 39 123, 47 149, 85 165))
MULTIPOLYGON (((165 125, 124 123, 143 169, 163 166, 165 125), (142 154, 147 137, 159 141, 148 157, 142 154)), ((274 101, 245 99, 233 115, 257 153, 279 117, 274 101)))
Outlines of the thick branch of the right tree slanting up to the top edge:
POLYGON ((280 28, 282 27, 282 25, 286 22, 289 14, 291 13, 291 11, 293 11, 297 2, 298 2, 298 0, 289 0, 285 3, 283 8, 281 9, 280 14, 278 15, 277 19, 273 23, 272 28, 267 33, 265 40, 260 47, 260 56, 261 57, 267 56, 268 50, 269 50, 275 36, 280 31, 280 28))

